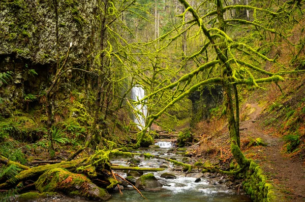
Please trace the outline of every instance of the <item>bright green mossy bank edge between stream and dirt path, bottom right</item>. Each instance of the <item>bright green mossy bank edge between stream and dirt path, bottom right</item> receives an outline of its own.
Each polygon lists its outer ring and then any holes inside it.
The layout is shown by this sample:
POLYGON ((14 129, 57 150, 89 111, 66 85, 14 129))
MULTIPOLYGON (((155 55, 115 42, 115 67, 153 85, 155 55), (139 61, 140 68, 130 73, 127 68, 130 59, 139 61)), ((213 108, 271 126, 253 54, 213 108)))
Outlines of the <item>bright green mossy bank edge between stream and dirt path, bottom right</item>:
POLYGON ((275 188, 266 182, 266 176, 263 175, 261 168, 254 161, 251 161, 250 168, 246 173, 246 180, 242 185, 254 202, 279 202, 275 188))

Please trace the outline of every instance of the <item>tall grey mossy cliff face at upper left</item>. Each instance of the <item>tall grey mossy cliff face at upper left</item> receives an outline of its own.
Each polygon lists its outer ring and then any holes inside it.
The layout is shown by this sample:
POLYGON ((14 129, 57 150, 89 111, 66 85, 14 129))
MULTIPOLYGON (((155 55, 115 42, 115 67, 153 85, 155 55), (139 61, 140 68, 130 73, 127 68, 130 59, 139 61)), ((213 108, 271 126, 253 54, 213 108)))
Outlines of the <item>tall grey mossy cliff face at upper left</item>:
MULTIPOLYGON (((58 3, 60 64, 63 64, 72 43, 66 66, 88 70, 88 56, 98 48, 98 43, 92 43, 98 41, 94 15, 97 3, 95 0, 67 0, 58 3)), ((56 69, 55 21, 53 1, 1 1, 0 72, 12 71, 13 74, 12 78, 8 79, 8 85, 0 85, 0 97, 4 103, 0 106, 0 115, 8 117, 13 110, 41 106, 38 96, 43 95, 50 86, 56 69), (38 75, 31 74, 29 70, 32 69, 38 75), (24 101, 27 94, 37 96, 37 100, 29 103, 30 107, 26 106, 24 101)), ((72 71, 73 78, 77 74, 80 72, 72 71)), ((80 84, 83 80, 78 81, 79 86, 84 86, 80 84)), ((59 90, 66 96, 70 94, 73 85, 71 77, 65 75, 60 80, 59 90)))

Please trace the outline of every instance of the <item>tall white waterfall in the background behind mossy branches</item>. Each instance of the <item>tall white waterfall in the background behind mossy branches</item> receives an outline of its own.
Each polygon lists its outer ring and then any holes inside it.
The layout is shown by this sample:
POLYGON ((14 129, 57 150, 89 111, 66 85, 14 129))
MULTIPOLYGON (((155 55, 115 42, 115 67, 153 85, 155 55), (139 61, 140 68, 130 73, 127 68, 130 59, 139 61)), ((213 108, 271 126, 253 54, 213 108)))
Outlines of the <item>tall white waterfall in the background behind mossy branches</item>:
MULTIPOLYGON (((141 100, 145 96, 145 91, 141 86, 135 86, 131 89, 131 99, 134 101, 141 100)), ((143 104, 137 104, 134 106, 135 110, 138 111, 134 116, 134 123, 137 127, 142 130, 145 127, 145 119, 147 115, 147 107, 143 104)))

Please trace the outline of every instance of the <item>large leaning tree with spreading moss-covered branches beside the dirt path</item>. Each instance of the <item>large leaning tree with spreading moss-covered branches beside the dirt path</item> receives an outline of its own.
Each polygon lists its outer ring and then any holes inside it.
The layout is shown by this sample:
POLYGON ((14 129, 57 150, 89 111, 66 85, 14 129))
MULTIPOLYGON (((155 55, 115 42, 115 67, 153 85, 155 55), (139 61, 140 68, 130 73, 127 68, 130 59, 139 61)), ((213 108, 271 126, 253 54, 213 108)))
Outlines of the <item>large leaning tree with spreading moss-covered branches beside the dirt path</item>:
MULTIPOLYGON (((293 12, 290 5, 293 3, 296 6, 297 2, 280 2, 279 4, 271 2, 268 8, 263 9, 255 6, 254 3, 253 5, 226 6, 224 1, 216 0, 215 3, 204 2, 200 5, 200 7, 211 9, 210 12, 203 14, 200 12, 200 8, 194 9, 187 1, 179 0, 179 2, 185 7, 185 11, 179 15, 183 20, 182 24, 177 26, 179 28, 178 33, 173 35, 173 30, 160 36, 158 42, 166 41, 166 45, 161 46, 157 50, 165 49, 186 31, 191 34, 193 32, 193 35, 189 36, 193 38, 202 34, 205 42, 199 50, 196 50, 182 61, 182 64, 185 64, 189 60, 194 60, 195 65, 197 65, 195 70, 186 73, 165 87, 156 89, 143 98, 142 101, 147 99, 151 100, 172 89, 170 91, 172 99, 167 102, 162 110, 155 114, 150 114, 147 117, 147 126, 141 136, 144 137, 146 130, 154 120, 182 98, 190 95, 190 93, 202 86, 220 84, 223 86, 224 97, 226 99, 226 109, 224 112, 226 112, 227 116, 231 152, 239 166, 243 169, 247 168, 250 161, 240 150, 239 98, 237 86, 247 85, 263 88, 263 84, 266 83, 275 83, 279 86, 279 82, 284 81, 283 75, 296 72, 294 70, 284 69, 285 67, 277 62, 278 56, 269 58, 262 53, 262 50, 266 46, 275 46, 277 40, 287 40, 287 36, 284 35, 283 25, 278 26, 276 22, 287 23, 286 19, 289 19, 289 16, 292 15, 291 12, 293 12), (225 16, 229 17, 229 15, 225 15, 226 13, 235 9, 247 9, 253 14, 253 17, 249 20, 239 19, 237 18, 238 16, 236 18, 225 18, 225 16), (192 15, 192 19, 186 22, 185 16, 188 12, 192 15), (185 29, 180 29, 185 24, 189 26, 185 29), (254 32, 255 36, 259 36, 263 43, 261 45, 246 44, 236 37, 233 39, 233 37, 229 36, 232 27, 248 29, 248 36, 251 32, 254 32), (272 62, 278 66, 277 71, 273 73, 261 68, 259 65, 265 61, 272 62), (192 83, 195 76, 201 72, 206 72, 205 77, 196 83, 192 83), (180 86, 184 86, 184 88, 178 91, 177 89, 180 86)), ((141 140, 142 138, 139 139, 137 145, 139 145, 141 140)))

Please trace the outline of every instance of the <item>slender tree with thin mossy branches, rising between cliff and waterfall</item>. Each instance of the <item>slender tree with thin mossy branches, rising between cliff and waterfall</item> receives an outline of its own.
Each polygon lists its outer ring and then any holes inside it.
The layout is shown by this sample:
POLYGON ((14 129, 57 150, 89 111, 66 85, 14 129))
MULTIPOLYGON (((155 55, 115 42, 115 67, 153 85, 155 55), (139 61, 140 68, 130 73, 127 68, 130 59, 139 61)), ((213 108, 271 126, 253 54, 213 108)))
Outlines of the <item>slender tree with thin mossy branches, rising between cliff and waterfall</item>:
POLYGON ((69 160, 75 158, 90 144, 96 147, 100 143, 108 133, 107 116, 122 107, 123 101, 130 92, 129 86, 132 86, 132 82, 126 81, 130 77, 127 69, 130 69, 136 61, 132 55, 128 55, 132 47, 124 37, 128 36, 130 30, 125 24, 123 14, 135 13, 134 9, 141 10, 141 8, 132 6, 135 0, 123 2, 98 0, 97 3, 97 11, 94 15, 98 25, 96 40, 99 43, 96 48, 98 54, 94 56, 94 65, 98 72, 98 79, 95 88, 93 121, 87 132, 84 146, 71 155, 69 160), (113 106, 114 103, 117 105, 113 106))

